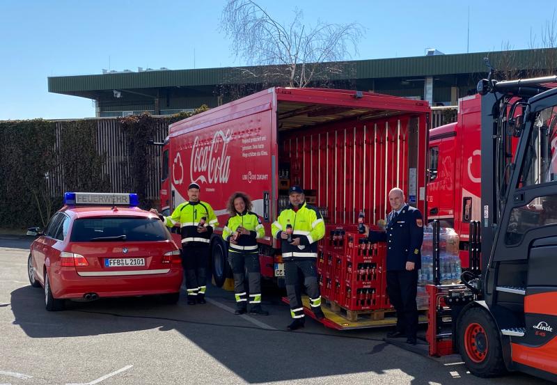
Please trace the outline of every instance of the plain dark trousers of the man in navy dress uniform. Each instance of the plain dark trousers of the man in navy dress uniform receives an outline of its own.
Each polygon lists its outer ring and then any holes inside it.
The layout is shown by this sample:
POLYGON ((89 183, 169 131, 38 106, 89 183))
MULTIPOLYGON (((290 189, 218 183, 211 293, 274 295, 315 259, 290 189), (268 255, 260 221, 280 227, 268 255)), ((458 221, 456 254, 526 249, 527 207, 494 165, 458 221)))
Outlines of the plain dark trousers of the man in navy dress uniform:
POLYGON ((387 272, 387 294, 396 310, 396 329, 407 337, 416 338, 418 331, 418 271, 389 270, 387 272))

